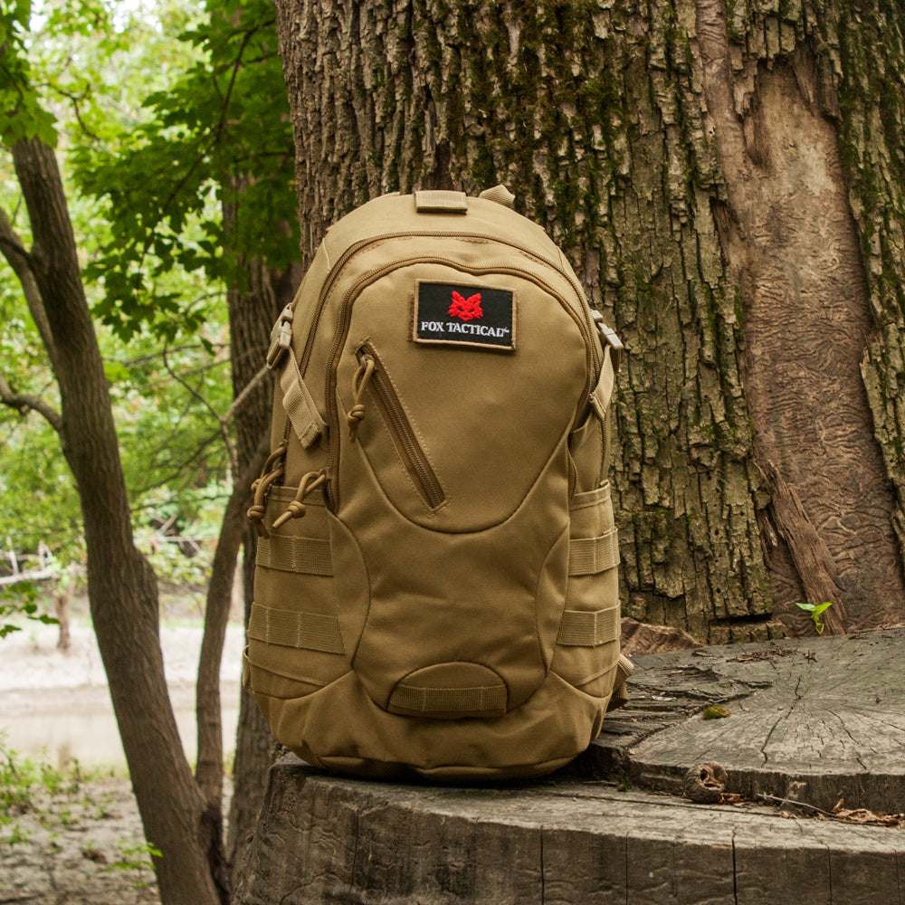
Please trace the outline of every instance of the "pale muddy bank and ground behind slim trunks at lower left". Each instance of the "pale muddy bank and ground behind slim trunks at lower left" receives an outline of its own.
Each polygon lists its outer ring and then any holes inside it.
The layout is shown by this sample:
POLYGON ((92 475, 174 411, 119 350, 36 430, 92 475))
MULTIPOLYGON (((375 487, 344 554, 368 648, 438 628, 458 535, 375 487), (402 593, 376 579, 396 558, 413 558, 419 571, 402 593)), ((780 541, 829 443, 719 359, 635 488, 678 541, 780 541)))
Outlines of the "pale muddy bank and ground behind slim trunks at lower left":
MULTIPOLYGON (((160 636, 194 757, 201 628, 171 624, 160 636)), ((55 628, 33 624, 0 640, 0 905, 157 905, 94 635, 73 625, 65 654, 56 641, 55 628), (73 756, 81 765, 74 770, 73 756)), ((242 628, 231 624, 221 671, 227 707, 238 700, 241 650, 242 628)), ((232 739, 229 719, 224 737, 232 739)))

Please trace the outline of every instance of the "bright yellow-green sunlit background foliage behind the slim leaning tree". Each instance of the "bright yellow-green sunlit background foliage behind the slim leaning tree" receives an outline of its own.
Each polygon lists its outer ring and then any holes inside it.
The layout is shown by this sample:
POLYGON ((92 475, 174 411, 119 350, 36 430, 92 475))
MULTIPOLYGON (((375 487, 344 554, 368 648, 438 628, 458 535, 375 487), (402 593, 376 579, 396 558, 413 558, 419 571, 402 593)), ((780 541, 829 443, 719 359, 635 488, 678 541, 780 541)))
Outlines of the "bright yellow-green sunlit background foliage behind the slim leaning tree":
MULTIPOLYGON (((159 105, 165 97, 162 90, 185 78, 187 71, 195 72, 196 81, 202 79, 203 42, 173 37, 197 24, 190 18, 196 15, 195 7, 180 0, 159 0, 151 14, 142 6, 113 0, 75 4, 45 0, 34 7, 0 0, 0 12, 6 38, 0 64, 10 76, 5 93, 0 93, 7 114, 0 119, 0 139, 8 146, 37 135, 58 144, 71 219, 90 271, 90 262, 102 260, 104 244, 115 241, 114 230, 106 220, 110 211, 71 182, 71 161, 104 154, 113 160, 118 149, 125 153, 134 141, 133 131, 155 115, 153 106, 142 105, 148 90, 157 92, 159 105), (28 31, 29 24, 33 32, 28 31)), ((183 92, 175 105, 188 100, 189 93, 183 92)), ((124 176, 131 172, 140 181, 147 166, 141 148, 132 153, 130 166, 131 170, 117 160, 100 177, 115 187, 122 167, 124 176)), ((172 183, 173 173, 166 167, 160 174, 159 192, 166 190, 167 179, 172 183)), ((208 196, 199 204, 219 223, 212 191, 206 188, 208 196)), ((120 195, 125 197, 124 192, 120 195)), ((132 200, 140 210, 145 199, 132 200)), ((29 247, 33 240, 21 215, 8 159, 0 160, 0 204, 10 212, 24 247, 29 247)), ((130 223, 140 221, 125 208, 112 213, 130 223)), ((183 225, 185 243, 203 233, 188 219, 183 225)), ((205 272, 173 270, 172 263, 166 255, 164 260, 158 258, 155 249, 146 255, 145 312, 154 313, 148 315, 150 323, 131 320, 129 329, 120 331, 128 336, 128 347, 99 330, 130 499, 148 546, 153 546, 160 525, 167 521, 174 531, 193 536, 214 533, 209 523, 222 505, 230 458, 224 446, 229 433, 217 414, 228 409, 232 398, 224 284, 211 281, 205 272), (178 310, 168 310, 167 300, 176 300, 178 310), (166 329, 157 329, 161 321, 166 329), (191 339, 176 345, 181 334, 191 339)), ((114 277, 110 283, 115 287, 114 277)), ((103 275, 87 291, 96 310, 115 302, 103 275)), ((6 325, 0 336, 0 373, 14 392, 39 396, 59 407, 41 338, 9 268, 0 268, 0 316, 6 325)), ((4 457, 0 527, 14 534, 17 552, 44 542, 63 565, 80 561, 84 551, 78 496, 50 425, 34 414, 0 410, 0 452, 4 457)), ((185 575, 188 566, 187 572, 197 579, 208 566, 207 557, 155 558, 162 559, 158 565, 164 567, 165 578, 185 575)))

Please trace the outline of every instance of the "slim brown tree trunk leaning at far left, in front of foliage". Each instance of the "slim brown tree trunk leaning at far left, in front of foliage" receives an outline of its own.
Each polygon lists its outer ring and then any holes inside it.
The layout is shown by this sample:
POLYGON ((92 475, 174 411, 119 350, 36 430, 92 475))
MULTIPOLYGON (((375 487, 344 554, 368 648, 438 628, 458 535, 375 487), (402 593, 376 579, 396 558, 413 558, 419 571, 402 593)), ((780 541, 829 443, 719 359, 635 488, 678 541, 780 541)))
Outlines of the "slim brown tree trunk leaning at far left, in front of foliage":
POLYGON ((52 334, 62 448, 78 485, 91 618, 164 905, 214 905, 205 801, 183 753, 157 634, 157 580, 132 541, 107 380, 52 149, 13 149, 34 236, 31 265, 52 334))

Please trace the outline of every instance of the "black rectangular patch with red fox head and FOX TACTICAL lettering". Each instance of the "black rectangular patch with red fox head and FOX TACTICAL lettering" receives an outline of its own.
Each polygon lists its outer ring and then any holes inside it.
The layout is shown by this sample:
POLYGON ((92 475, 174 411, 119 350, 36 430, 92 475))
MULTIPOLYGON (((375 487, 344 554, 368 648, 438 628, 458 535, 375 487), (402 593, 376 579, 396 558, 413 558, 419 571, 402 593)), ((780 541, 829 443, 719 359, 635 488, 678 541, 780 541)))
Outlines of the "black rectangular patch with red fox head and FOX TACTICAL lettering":
POLYGON ((418 281, 414 341, 515 348, 515 293, 491 286, 418 281))

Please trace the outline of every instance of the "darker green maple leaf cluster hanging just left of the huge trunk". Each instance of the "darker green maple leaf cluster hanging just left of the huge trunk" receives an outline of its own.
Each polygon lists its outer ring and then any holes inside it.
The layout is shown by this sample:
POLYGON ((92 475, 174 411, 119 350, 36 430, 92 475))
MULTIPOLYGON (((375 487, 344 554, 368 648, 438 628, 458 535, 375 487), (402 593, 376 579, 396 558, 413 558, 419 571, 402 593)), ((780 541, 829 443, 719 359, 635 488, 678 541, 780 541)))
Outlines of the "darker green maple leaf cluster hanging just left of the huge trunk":
POLYGON ((102 281, 96 310, 121 338, 150 329, 173 341, 205 324, 206 300, 186 305, 168 274, 241 286, 247 259, 284 267, 298 257, 273 26, 266 0, 211 5, 208 21, 180 38, 196 62, 148 96, 146 121, 77 155, 80 184, 110 221, 85 272, 102 281))

